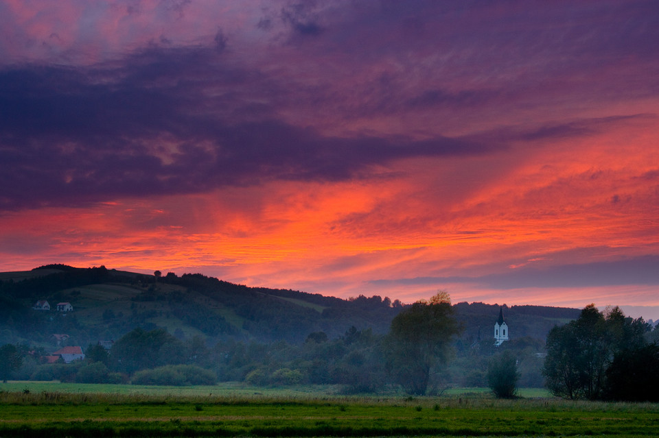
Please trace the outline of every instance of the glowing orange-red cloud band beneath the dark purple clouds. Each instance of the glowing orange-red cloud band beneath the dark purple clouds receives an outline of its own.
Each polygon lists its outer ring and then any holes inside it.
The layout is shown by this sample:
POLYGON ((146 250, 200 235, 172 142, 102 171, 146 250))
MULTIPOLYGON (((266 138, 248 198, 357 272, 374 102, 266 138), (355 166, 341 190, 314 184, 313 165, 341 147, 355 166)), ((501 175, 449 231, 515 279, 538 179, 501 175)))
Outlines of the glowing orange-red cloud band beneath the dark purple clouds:
MULTIPOLYGON (((475 278, 531 262, 551 267, 656 254, 659 161, 652 137, 634 132, 623 126, 534 154, 520 151, 522 159, 511 162, 489 160, 492 168, 478 178, 470 169, 484 165, 480 158, 408 159, 396 163, 396 173, 382 168, 348 182, 273 182, 15 212, 0 219, 3 235, 43 243, 5 269, 58 261, 201 271, 250 285, 415 300, 447 282, 384 287, 372 280, 475 278), (601 154, 603 145, 623 139, 632 141, 633 157, 601 154), (590 250, 573 251, 580 248, 590 250)), ((456 300, 500 295, 466 280, 448 286, 456 300)), ((647 289, 638 290, 647 301, 647 289)), ((570 302, 570 293, 562 294, 535 288, 505 297, 570 302)))

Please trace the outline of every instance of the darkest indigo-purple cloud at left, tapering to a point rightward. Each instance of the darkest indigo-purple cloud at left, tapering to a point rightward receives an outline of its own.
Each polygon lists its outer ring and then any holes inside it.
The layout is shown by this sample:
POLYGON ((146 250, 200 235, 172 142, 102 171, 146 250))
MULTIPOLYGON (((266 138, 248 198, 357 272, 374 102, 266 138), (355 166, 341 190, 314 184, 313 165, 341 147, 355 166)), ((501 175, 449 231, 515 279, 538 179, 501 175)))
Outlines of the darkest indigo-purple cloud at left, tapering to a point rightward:
POLYGON ((343 180, 397 158, 488 151, 454 138, 339 138, 295 127, 250 99, 276 99, 276 84, 221 60, 212 49, 152 49, 89 68, 0 71, 0 208, 343 180), (212 87, 225 92, 208 97, 212 87))

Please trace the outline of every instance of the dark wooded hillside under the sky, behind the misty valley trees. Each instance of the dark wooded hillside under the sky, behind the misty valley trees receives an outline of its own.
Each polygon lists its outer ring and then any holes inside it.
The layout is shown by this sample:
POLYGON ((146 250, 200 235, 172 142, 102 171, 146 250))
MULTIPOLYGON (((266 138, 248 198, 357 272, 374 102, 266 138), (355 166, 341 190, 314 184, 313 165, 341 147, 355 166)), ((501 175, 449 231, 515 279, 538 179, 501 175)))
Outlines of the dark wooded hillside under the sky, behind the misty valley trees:
MULTIPOLYGON (((105 267, 48 265, 32 271, 0 273, 0 343, 51 345, 53 334, 88 345, 119 339, 133 328, 166 328, 179 339, 196 334, 212 340, 300 343, 312 332, 329 339, 351 327, 384 334, 404 308, 377 295, 343 300, 284 289, 252 288, 201 274, 157 278, 105 267), (35 311, 47 300, 51 311, 35 311), (73 311, 55 310, 69 302, 73 311)), ((492 337, 499 307, 483 303, 454 306, 465 330, 462 341, 492 337)), ((511 339, 544 341, 556 324, 579 315, 577 309, 505 306, 511 339)))

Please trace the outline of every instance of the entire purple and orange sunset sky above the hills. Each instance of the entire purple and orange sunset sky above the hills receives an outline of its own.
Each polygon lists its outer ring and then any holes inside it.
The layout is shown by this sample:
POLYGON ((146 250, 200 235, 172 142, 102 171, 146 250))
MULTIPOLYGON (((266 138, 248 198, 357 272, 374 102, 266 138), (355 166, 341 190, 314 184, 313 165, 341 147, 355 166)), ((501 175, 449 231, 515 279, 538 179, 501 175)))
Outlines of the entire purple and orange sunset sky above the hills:
POLYGON ((658 113, 656 0, 0 0, 0 271, 659 319, 658 113))

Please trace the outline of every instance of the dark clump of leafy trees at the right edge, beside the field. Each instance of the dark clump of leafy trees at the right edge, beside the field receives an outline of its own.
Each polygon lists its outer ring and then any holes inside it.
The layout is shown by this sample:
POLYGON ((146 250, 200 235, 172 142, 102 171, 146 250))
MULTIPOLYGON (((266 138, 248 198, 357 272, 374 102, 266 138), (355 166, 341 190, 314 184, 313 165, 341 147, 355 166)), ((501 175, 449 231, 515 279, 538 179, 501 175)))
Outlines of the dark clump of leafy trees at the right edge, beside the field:
POLYGON ((618 307, 586 306, 548 334, 548 389, 571 400, 659 402, 659 345, 650 332, 643 318, 625 317, 618 307))

